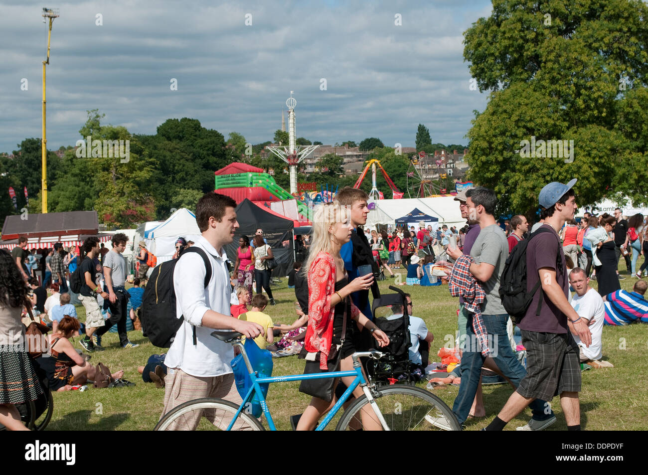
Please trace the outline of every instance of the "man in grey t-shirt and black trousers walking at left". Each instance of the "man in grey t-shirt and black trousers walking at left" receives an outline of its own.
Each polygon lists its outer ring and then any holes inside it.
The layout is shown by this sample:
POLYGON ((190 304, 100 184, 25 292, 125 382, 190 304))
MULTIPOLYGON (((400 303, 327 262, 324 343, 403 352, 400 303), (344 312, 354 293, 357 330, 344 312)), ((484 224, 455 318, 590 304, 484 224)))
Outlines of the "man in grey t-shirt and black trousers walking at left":
POLYGON ((128 265, 122 252, 126 249, 128 237, 124 233, 117 233, 113 236, 113 248, 106 253, 104 257, 104 280, 106 281, 105 289, 108 292, 108 302, 110 308, 110 318, 106 320, 106 325, 98 329, 93 334, 93 343, 95 347, 101 348, 101 336, 111 329, 117 323, 117 334, 119 334, 119 344, 122 348, 133 348, 135 345, 128 341, 126 334, 126 318, 128 318, 128 294, 126 294, 126 272, 128 265))

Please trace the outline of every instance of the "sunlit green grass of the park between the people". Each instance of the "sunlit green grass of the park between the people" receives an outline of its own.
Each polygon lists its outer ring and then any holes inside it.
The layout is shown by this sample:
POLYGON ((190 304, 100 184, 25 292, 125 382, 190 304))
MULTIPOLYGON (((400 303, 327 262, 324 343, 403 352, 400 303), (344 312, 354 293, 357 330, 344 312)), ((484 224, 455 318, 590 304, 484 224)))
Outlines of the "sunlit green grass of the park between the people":
MULTIPOLYGON (((623 262, 623 261, 621 261, 623 262)), ((623 268, 623 264, 621 264, 623 268)), ((623 274, 623 272, 622 272, 623 274)), ((403 276, 404 280, 404 276, 403 276)), ((631 290, 636 279, 627 277, 621 287, 631 290)), ((380 283, 381 292, 388 293, 392 280, 380 283)), ((591 283, 596 288, 596 281, 591 283)), ((415 305, 413 314, 424 319, 428 329, 434 332, 435 341, 430 348, 430 362, 438 361, 436 352, 454 339, 456 331, 457 299, 450 296, 447 286, 419 287, 405 286, 412 295, 415 305)), ((293 289, 288 289, 286 279, 273 288, 277 305, 266 310, 278 323, 294 321, 293 289)), ((85 312, 77 307, 83 321, 85 312)), ((152 430, 161 414, 164 389, 157 389, 152 383, 143 382, 137 373, 137 366, 144 365, 148 356, 164 353, 154 347, 141 332, 133 330, 128 334, 133 343, 140 343, 133 349, 119 348, 116 333, 106 333, 105 351, 93 353, 91 363, 103 362, 111 371, 124 369, 124 378, 137 384, 134 388, 94 389, 84 392, 68 391, 54 393, 54 415, 47 430, 152 430)), ((79 347, 78 338, 73 341, 79 347)), ((647 430, 648 429, 648 325, 629 327, 604 327, 603 358, 614 364, 614 368, 592 369, 583 372, 581 392, 581 426, 585 430, 647 430)), ((303 373, 304 362, 297 356, 286 356, 274 360, 273 376, 303 373)), ((297 391, 299 382, 276 383, 270 386, 268 405, 279 430, 290 430, 288 417, 303 411, 310 398, 297 391)), ((424 388, 424 384, 419 386, 424 388)), ((457 395, 458 388, 435 389, 434 393, 445 400, 448 406, 457 395)), ((467 421, 468 430, 479 430, 486 426, 511 395, 508 385, 484 386, 484 405, 487 417, 467 421)), ((566 430, 566 424, 559 404, 559 398, 552 401, 558 421, 548 430, 566 430)), ((507 430, 526 424, 531 417, 524 411, 508 424, 507 430)), ((267 426, 266 426, 267 427, 267 426)), ((334 424, 330 425, 334 428, 334 424)))

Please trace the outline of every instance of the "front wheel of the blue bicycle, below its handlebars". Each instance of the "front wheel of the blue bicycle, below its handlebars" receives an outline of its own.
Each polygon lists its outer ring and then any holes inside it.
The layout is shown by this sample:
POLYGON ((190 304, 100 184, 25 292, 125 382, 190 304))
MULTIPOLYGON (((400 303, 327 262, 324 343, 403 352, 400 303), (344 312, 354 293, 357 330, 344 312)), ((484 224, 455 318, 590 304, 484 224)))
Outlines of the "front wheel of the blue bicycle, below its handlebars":
MULTIPOLYGON (((390 430, 461 430, 452 410, 429 391, 396 385, 378 388, 378 394, 375 401, 390 430)), ((381 427, 366 396, 344 412, 335 430, 358 430, 363 419, 371 428, 381 427)))

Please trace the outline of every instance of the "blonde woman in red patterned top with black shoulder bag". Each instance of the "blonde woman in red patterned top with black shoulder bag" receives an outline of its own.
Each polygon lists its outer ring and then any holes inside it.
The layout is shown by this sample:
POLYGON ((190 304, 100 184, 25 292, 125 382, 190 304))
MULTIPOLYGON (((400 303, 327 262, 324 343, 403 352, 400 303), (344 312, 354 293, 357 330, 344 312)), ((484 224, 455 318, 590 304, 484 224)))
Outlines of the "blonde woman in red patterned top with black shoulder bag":
MULTIPOLYGON (((378 345, 389 344, 388 336, 365 317, 358 307, 351 302, 350 295, 359 290, 367 290, 373 283, 373 274, 362 275, 349 283, 344 262, 340 257, 340 248, 349 242, 353 226, 349 212, 338 202, 320 205, 313 218, 313 235, 308 260, 303 266, 308 275, 308 327, 304 339, 304 348, 300 358, 307 360, 319 356, 319 371, 352 371, 351 355, 356 351, 353 344, 353 327, 356 322, 372 332, 378 345), (343 325, 346 314, 346 325, 343 325), (342 339, 342 334, 345 338, 342 339), (329 354, 332 345, 340 354, 340 367, 329 367, 329 354)), ((333 353, 336 353, 335 351, 333 353)), ((331 358, 330 363, 334 360, 331 358)), ((350 385, 353 377, 342 378, 350 385)), ((329 380, 314 380, 323 386, 329 380)), ((333 384, 333 393, 336 380, 333 384)), ((356 388, 355 397, 362 396, 362 389, 356 388)), ((297 430, 313 430, 319 417, 330 410, 336 402, 335 396, 327 401, 313 397, 297 424, 297 430)), ((371 420, 369 413, 362 413, 362 424, 365 429, 380 429, 380 424, 371 420)))

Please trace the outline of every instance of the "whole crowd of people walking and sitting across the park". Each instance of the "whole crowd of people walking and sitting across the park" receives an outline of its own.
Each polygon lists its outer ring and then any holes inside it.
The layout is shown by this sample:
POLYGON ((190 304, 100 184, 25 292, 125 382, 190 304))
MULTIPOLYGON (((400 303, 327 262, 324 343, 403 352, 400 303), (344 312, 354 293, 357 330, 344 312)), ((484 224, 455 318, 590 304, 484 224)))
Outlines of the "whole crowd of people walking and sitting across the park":
MULTIPOLYGON (((461 191, 455 198, 461 216, 467 220, 461 229, 444 225, 434 231, 421 222, 418 231, 405 226, 391 233, 372 232, 364 229, 369 213, 367 194, 350 187, 342 189, 334 202, 316 208, 312 236, 307 244, 301 240, 308 252, 304 262, 295 262, 291 277, 297 297, 297 317, 292 325, 275 324, 272 315, 266 313, 267 306, 275 303, 268 264, 274 256, 263 230, 257 229, 251 242, 245 235, 238 238, 230 275, 224 246, 237 235, 237 203, 224 195, 205 194, 196 205, 200 237, 195 242, 179 237, 173 257, 178 260, 173 273, 176 313, 184 319, 168 353, 152 355, 138 371, 145 381, 165 388, 164 415, 183 402, 201 397, 220 397, 240 404, 229 366, 233 349, 213 338, 212 329, 235 330, 260 348, 301 340, 299 358, 305 360, 306 371, 350 370, 351 354, 376 343, 379 347, 389 344, 389 336, 373 322, 371 312, 370 294, 373 298, 380 295, 376 277, 403 266, 408 270, 405 284, 422 284, 427 277, 423 266, 440 265, 446 269, 450 292, 459 296, 461 364, 450 378, 459 382, 452 408, 459 423, 484 415, 481 368, 487 367, 504 377, 515 391, 486 430, 501 430, 526 406, 531 406, 533 416, 518 429, 542 430, 556 420, 548 405, 556 395, 561 397, 568 429, 579 430, 581 364, 612 366, 603 356, 603 328, 634 321, 648 323, 646 283, 641 279, 645 261, 638 271, 635 268, 638 255, 645 251, 648 226, 641 215, 625 220, 621 210, 617 210, 618 216, 586 213, 577 223, 574 183, 553 182, 542 189, 538 196, 540 221, 531 231, 522 215, 513 216, 504 229, 500 227, 494 215, 496 195, 477 187, 461 191), (183 252, 189 246, 207 255, 213 271, 207 284, 202 256, 183 252), (530 295, 530 305, 516 321, 527 354, 526 367, 511 346, 511 319, 500 297, 505 263, 509 254, 518 252, 517 246, 525 253, 530 295), (630 254, 628 249, 633 254, 627 260, 628 270, 638 279, 632 292, 621 290, 619 278, 623 277, 619 277, 617 264, 621 255, 630 254), (597 290, 590 287, 591 279, 596 279, 597 290), (279 342, 275 338, 280 338, 279 342)), ((137 346, 128 340, 126 319, 135 317, 142 302, 141 279, 148 270, 148 251, 140 242, 137 258, 141 277, 126 290, 128 266, 122 255, 126 240, 125 235, 115 234, 112 248, 102 253, 97 238, 91 237, 84 242, 78 259, 73 253, 82 275, 79 299, 86 310, 84 325, 69 303, 62 246, 54 245, 56 259, 46 262, 53 280, 49 297, 32 277, 32 268, 27 267, 30 259, 23 253, 24 240, 12 255, 0 250, 0 259, 12 264, 3 262, 0 272, 0 358, 3 368, 8 368, 0 380, 0 423, 19 428, 15 404, 34 400, 43 391, 24 347, 12 347, 24 336, 21 318, 25 308, 34 307, 52 323, 48 337, 51 354, 42 366, 52 390, 68 390, 95 377, 96 370, 69 342, 73 334, 82 334, 86 351, 97 351, 102 349, 101 336, 116 325, 121 347, 137 346), (102 307, 106 307, 105 315, 102 307), (19 391, 10 387, 16 377, 27 382, 19 391)), ((411 295, 404 295, 410 317, 410 360, 424 367, 434 334, 422 319, 412 315, 411 295)), ((404 312, 403 308, 392 310, 392 318, 404 312)), ((122 374, 119 371, 113 377, 122 374)), ((314 429, 350 379, 335 380, 332 388, 325 387, 330 384, 325 379, 314 380, 322 386, 300 386, 311 400, 303 413, 291 417, 294 428, 314 429)), ((354 397, 361 395, 356 388, 354 397)), ((185 418, 176 428, 194 428, 197 422, 185 418)), ((444 417, 432 422, 440 428, 449 427, 444 417)), ((369 413, 362 413, 362 426, 380 428, 369 413)))

